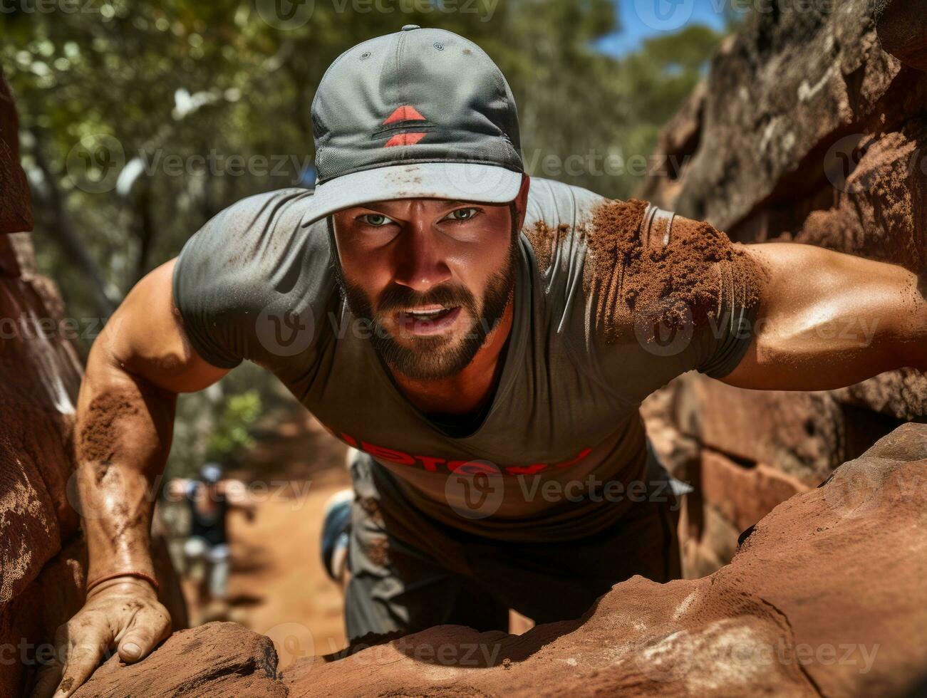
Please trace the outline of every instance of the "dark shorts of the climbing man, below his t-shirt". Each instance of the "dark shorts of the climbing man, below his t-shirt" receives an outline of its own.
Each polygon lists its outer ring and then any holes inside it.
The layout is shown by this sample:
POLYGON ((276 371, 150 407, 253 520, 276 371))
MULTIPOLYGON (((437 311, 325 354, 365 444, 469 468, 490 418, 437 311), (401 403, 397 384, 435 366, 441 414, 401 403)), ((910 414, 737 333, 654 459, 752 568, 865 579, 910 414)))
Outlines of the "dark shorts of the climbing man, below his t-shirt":
MULTIPOLYGON (((656 477, 667 477, 657 469, 656 477)), ((366 453, 358 453, 350 470, 355 498, 345 619, 351 640, 442 624, 507 631, 509 608, 539 624, 578 618, 629 577, 679 577, 678 501, 666 487, 592 536, 513 543, 426 517, 366 453)))

